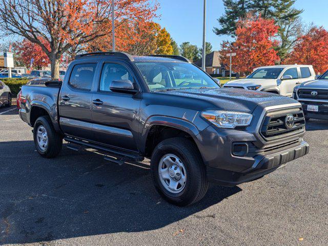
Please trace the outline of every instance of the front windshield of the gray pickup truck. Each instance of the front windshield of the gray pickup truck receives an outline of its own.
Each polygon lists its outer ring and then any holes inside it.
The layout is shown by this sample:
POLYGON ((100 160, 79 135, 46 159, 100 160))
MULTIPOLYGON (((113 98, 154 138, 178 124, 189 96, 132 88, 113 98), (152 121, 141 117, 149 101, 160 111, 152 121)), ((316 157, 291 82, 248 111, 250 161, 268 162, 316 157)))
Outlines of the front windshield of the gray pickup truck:
POLYGON ((135 65, 151 91, 199 87, 220 88, 209 75, 190 63, 140 61, 135 65))

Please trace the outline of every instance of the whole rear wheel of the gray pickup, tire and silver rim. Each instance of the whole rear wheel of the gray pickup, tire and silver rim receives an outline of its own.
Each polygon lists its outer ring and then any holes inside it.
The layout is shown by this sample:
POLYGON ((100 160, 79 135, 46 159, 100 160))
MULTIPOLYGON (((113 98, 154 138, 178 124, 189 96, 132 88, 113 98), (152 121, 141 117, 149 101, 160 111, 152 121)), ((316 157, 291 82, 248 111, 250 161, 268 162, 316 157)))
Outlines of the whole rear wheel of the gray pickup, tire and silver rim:
POLYGON ((55 157, 63 146, 63 138, 53 128, 49 116, 36 119, 33 136, 37 152, 45 158, 55 157))

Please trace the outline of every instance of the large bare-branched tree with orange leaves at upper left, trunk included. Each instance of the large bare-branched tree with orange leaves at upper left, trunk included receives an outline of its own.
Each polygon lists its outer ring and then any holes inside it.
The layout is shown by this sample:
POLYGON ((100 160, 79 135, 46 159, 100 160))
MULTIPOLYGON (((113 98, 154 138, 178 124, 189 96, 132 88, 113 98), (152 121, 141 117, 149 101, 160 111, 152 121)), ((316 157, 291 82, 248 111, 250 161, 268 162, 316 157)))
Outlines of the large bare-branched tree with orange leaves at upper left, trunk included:
MULTIPOLYGON (((60 57, 74 46, 110 35, 111 2, 108 0, 0 0, 0 28, 8 35, 20 35, 39 45, 59 77, 60 57), (47 47, 39 40, 42 36, 47 47)), ((157 1, 115 0, 115 24, 155 15, 157 1)))

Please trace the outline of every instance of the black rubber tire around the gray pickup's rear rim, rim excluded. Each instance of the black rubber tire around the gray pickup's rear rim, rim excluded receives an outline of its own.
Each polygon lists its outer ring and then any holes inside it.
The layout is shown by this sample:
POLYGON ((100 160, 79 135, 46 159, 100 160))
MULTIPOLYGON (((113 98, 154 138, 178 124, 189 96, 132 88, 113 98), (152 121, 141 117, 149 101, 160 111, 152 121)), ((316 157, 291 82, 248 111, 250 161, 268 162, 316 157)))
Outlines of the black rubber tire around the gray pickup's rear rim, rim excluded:
POLYGON ((58 155, 63 146, 63 138, 55 131, 49 116, 40 116, 36 119, 33 128, 34 144, 37 152, 45 158, 53 158, 58 155), (37 142, 37 130, 43 126, 47 132, 48 145, 42 149, 37 142))

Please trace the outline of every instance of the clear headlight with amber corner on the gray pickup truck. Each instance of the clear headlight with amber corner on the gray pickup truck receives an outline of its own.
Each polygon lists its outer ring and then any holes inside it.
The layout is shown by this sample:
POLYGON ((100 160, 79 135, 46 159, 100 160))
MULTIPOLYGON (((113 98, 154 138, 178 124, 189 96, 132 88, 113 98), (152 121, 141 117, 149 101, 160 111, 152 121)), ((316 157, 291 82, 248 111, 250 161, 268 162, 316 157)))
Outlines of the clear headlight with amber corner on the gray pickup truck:
POLYGON ((201 116, 219 128, 249 126, 253 118, 253 115, 248 113, 220 110, 204 111, 201 113, 201 116))

